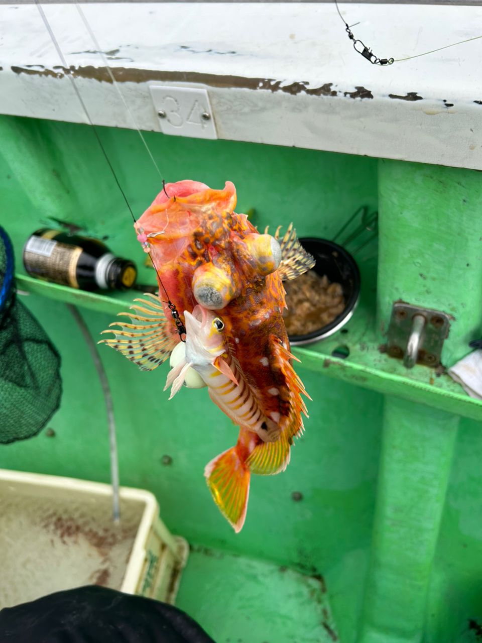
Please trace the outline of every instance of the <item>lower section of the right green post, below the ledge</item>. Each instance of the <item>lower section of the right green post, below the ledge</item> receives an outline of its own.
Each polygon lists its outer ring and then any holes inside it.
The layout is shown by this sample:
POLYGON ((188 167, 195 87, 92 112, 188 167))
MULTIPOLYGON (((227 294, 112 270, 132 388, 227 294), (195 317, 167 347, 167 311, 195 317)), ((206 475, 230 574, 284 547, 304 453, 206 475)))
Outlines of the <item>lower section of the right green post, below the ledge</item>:
POLYGON ((387 397, 360 643, 419 643, 458 417, 387 397))

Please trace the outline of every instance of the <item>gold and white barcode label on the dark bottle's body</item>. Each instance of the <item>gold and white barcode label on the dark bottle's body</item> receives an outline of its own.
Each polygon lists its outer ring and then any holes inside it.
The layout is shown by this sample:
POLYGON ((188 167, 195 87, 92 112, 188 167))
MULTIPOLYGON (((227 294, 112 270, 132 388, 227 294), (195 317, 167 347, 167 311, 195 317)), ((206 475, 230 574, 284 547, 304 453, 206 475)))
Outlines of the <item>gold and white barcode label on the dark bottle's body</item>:
POLYGON ((78 288, 76 269, 82 248, 59 241, 30 237, 23 262, 26 271, 37 278, 78 288))

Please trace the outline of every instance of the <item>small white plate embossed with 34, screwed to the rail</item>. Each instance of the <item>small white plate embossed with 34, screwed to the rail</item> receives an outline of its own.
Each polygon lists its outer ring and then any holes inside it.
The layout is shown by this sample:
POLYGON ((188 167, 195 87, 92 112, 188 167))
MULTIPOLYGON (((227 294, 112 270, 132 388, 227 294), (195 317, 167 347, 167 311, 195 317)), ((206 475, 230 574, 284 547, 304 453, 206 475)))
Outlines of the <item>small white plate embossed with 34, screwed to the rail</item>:
POLYGON ((149 87, 163 134, 218 138, 206 89, 149 87))

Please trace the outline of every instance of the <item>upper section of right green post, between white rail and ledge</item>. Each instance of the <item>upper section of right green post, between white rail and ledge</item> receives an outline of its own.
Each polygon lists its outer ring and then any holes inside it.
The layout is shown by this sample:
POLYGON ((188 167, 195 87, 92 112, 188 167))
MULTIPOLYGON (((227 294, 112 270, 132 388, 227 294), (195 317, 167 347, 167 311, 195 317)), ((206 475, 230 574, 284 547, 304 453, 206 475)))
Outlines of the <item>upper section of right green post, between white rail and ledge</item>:
POLYGON ((378 314, 393 302, 445 311, 454 320, 442 352, 450 367, 482 326, 482 181, 463 168, 379 161, 378 314))

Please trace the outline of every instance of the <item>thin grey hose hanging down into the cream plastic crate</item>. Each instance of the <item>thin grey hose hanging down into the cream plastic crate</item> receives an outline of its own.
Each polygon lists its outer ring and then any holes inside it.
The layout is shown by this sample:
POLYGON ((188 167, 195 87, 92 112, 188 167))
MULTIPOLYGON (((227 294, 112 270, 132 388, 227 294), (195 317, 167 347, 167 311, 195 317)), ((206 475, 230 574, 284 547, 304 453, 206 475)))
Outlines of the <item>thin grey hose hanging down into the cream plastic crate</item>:
POLYGON ((85 343, 87 348, 92 356, 94 367, 96 368, 100 385, 102 386, 103 398, 105 401, 105 410, 107 411, 107 424, 109 426, 109 443, 110 443, 110 455, 111 455, 111 484, 112 484, 112 520, 114 522, 120 521, 120 492, 119 492, 119 457, 117 451, 117 439, 116 439, 116 421, 114 419, 114 406, 112 404, 112 395, 111 388, 109 386, 109 380, 107 379, 107 374, 102 365, 102 361, 99 357, 99 354, 96 349, 94 340, 92 339, 91 333, 87 328, 87 324, 80 315, 80 312, 73 306, 71 303, 67 303, 67 308, 73 314, 73 318, 77 322, 77 325, 84 336, 85 343))

